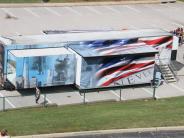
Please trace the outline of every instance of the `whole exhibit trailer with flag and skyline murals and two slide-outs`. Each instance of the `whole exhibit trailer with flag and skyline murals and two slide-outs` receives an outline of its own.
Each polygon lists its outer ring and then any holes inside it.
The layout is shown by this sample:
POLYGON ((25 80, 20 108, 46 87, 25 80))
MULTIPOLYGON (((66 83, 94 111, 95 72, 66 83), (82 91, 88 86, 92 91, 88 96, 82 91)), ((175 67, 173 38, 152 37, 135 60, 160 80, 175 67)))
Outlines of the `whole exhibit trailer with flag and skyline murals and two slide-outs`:
POLYGON ((0 83, 16 89, 150 83, 154 64, 169 64, 176 50, 177 38, 157 29, 2 36, 0 83))

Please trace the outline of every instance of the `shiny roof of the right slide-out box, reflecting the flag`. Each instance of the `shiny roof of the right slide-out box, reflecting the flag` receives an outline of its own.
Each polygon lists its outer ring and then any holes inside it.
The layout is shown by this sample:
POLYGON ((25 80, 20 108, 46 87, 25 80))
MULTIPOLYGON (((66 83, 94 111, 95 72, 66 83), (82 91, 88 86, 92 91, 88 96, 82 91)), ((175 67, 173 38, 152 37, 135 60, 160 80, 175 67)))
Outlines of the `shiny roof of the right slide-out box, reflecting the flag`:
POLYGON ((70 45, 72 50, 82 57, 100 57, 100 56, 116 56, 116 55, 130 55, 130 54, 144 54, 157 53, 154 47, 145 45, 145 43, 135 43, 130 45, 70 45))

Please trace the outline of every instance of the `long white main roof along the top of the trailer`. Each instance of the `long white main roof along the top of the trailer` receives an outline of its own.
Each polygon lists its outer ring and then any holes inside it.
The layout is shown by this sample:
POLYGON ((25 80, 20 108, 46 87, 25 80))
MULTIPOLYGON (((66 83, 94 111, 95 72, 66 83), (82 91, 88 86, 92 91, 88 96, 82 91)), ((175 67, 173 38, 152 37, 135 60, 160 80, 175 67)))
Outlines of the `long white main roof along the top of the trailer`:
MULTIPOLYGON (((90 41, 90 40, 113 40, 135 37, 153 37, 172 35, 169 32, 160 29, 139 29, 139 30, 121 30, 121 31, 97 31, 97 32, 78 32, 64 34, 48 34, 48 35, 31 35, 31 36, 13 36, 4 37, 11 44, 33 45, 62 43, 72 41, 90 41)), ((1 39, 0 39, 1 40, 1 39)), ((3 39, 2 39, 3 40, 3 39)), ((5 45, 9 45, 6 41, 2 41, 5 45)))

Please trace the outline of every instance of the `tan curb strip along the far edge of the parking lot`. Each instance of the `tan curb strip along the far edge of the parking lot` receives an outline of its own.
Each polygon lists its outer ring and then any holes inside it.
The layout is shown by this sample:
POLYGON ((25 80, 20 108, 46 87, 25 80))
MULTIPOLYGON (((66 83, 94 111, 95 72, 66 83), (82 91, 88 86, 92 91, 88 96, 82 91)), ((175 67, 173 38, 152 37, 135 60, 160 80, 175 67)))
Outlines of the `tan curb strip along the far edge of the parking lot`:
POLYGON ((72 6, 102 6, 102 5, 124 5, 124 4, 146 4, 146 3, 161 3, 160 0, 125 0, 125 1, 110 1, 110 2, 78 2, 78 3, 2 3, 0 8, 21 8, 21 7, 72 7, 72 6))

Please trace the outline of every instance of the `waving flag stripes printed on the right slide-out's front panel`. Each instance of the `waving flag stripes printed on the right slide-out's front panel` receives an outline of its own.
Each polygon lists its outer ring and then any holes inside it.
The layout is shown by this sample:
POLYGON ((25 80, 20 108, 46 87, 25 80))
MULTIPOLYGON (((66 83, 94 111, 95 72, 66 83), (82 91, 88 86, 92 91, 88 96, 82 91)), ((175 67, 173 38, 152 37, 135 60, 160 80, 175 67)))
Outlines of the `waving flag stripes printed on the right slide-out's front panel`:
POLYGON ((155 63, 153 57, 154 55, 105 59, 95 74, 98 79, 97 86, 109 86, 137 72, 153 68, 155 63))

